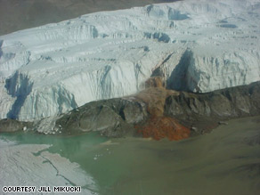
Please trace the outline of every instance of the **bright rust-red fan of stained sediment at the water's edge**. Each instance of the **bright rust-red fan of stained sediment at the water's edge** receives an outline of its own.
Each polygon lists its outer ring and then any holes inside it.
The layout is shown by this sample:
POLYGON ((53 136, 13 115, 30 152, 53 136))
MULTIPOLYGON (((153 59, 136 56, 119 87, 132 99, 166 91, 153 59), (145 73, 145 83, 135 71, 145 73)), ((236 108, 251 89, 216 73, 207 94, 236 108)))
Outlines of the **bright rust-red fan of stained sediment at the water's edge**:
POLYGON ((191 130, 179 124, 174 118, 150 118, 144 126, 136 126, 142 137, 152 137, 155 140, 168 138, 171 141, 190 137, 191 130))

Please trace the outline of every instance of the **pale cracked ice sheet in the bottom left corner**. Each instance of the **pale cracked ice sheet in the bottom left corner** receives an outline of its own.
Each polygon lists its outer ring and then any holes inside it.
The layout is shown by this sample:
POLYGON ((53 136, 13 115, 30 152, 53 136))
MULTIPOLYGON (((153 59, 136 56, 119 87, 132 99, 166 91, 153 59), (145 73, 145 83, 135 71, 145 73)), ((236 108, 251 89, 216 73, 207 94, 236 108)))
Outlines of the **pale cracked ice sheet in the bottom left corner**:
MULTIPOLYGON (((84 186, 82 194, 96 194, 93 177, 77 163, 46 151, 46 144, 17 144, 0 139, 0 189, 4 186, 84 186)), ((20 193, 22 194, 22 193, 20 193)), ((30 193, 26 193, 30 194, 30 193)), ((50 194, 50 193, 31 193, 50 194)), ((53 193, 52 193, 53 194, 53 193)))

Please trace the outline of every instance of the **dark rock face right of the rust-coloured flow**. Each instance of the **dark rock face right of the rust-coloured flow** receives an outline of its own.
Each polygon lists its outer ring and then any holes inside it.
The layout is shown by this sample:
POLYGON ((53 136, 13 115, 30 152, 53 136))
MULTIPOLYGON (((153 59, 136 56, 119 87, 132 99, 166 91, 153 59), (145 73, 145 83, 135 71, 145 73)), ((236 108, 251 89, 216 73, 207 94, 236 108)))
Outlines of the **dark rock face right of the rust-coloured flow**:
POLYGON ((260 115, 260 82, 211 93, 170 95, 165 114, 201 131, 207 131, 223 119, 260 115))

